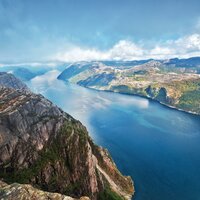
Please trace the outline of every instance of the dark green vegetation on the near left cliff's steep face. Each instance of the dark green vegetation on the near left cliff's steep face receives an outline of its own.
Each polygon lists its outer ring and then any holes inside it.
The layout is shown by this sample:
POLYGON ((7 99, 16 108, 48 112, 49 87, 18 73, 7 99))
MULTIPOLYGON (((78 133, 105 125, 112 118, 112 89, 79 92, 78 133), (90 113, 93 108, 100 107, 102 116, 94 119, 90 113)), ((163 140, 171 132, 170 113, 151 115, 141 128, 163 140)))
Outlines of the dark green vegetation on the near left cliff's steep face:
MULTIPOLYGON (((81 185, 84 184, 85 174, 81 175, 78 181, 70 182, 69 175, 74 170, 74 155, 78 156, 80 163, 84 165, 87 149, 86 141, 89 136, 86 129, 76 120, 67 121, 61 127, 55 138, 51 138, 49 143, 38 152, 37 160, 28 168, 13 170, 9 163, 0 170, 0 177, 7 183, 18 182, 22 184, 32 183, 40 189, 52 192, 60 191, 66 195, 79 194, 81 185), (73 134, 74 133, 74 134, 73 134), (75 145, 78 139, 78 147, 75 145), (59 165, 59 166, 58 166, 59 165), (56 168, 61 168, 64 173, 61 175, 56 168), (43 180, 43 173, 50 169, 49 179, 43 180)), ((30 149, 30 152, 37 152, 30 149)), ((37 154, 36 154, 37 155, 37 154)), ((85 194, 90 195, 90 194, 85 194)))

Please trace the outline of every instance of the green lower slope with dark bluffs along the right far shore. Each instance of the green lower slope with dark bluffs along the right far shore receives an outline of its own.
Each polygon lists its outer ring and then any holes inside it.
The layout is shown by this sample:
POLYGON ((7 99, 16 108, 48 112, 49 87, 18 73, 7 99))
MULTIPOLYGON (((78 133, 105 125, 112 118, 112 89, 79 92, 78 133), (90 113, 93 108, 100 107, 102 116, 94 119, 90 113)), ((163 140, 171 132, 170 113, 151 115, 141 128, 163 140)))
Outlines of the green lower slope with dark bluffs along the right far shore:
POLYGON ((152 83, 148 87, 136 88, 128 85, 112 86, 111 91, 125 94, 150 96, 159 102, 185 111, 200 113, 200 80, 181 80, 169 83, 152 83))

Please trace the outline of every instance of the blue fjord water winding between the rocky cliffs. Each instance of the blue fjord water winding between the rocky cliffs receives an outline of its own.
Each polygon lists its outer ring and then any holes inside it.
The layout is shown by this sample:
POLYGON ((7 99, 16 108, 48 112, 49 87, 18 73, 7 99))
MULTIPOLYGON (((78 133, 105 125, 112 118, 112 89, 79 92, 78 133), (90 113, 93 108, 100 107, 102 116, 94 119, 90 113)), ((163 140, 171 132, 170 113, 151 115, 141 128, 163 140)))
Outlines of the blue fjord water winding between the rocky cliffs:
POLYGON ((134 200, 200 200, 200 117, 144 98, 99 92, 56 80, 28 85, 88 128, 135 184, 134 200))

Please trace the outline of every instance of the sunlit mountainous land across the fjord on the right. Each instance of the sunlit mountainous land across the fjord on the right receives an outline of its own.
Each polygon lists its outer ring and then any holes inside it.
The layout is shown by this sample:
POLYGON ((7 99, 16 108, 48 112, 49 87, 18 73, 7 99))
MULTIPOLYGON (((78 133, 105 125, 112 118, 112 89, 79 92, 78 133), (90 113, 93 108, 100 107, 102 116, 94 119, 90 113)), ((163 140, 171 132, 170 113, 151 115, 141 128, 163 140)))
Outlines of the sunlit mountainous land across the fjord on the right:
POLYGON ((95 65, 91 62, 90 66, 82 67, 79 63, 79 71, 74 63, 58 78, 97 90, 144 96, 176 109, 200 114, 199 57, 151 59, 129 67, 123 67, 127 61, 124 65, 122 62, 120 67, 114 61, 112 66, 105 62, 96 62, 95 65))

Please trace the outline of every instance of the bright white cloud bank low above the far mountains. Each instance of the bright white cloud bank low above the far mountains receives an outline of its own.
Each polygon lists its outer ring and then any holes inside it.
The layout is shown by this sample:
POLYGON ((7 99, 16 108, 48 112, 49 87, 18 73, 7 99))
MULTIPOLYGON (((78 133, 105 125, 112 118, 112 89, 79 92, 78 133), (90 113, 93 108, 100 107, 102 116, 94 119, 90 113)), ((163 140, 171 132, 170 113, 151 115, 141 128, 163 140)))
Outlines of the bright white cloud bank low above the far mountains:
POLYGON ((140 60, 168 59, 173 57, 188 58, 200 56, 200 34, 191 34, 176 40, 158 42, 152 47, 134 43, 130 40, 120 40, 112 48, 101 51, 96 48, 70 46, 64 52, 58 52, 51 59, 57 61, 92 61, 92 60, 140 60))

